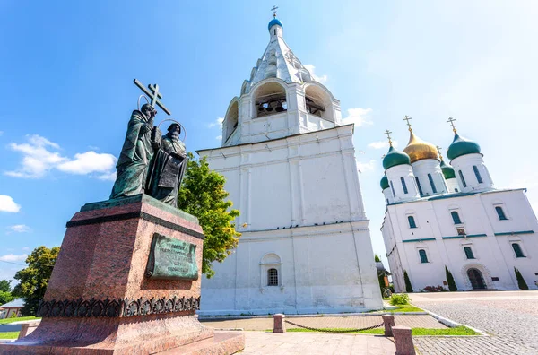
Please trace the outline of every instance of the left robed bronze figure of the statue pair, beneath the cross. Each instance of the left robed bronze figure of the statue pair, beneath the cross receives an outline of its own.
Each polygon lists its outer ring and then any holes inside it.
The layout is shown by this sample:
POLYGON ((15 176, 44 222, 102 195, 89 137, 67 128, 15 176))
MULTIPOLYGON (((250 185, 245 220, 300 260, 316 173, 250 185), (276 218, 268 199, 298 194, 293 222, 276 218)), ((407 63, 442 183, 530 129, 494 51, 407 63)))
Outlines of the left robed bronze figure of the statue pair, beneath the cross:
POLYGON ((126 140, 117 160, 116 182, 110 199, 138 195, 143 193, 150 160, 153 158, 154 145, 152 134, 158 129, 153 127, 153 118, 157 110, 146 103, 140 110, 135 109, 127 125, 126 140))

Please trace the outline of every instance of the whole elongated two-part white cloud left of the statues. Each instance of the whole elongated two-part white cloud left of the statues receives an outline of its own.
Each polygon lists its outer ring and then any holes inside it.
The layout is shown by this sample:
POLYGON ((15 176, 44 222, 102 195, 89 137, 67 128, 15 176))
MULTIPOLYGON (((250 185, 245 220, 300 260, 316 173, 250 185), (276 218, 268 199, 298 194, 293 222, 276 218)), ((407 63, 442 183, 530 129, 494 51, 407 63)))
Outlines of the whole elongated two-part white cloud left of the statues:
POLYGON ((50 142, 38 134, 27 136, 28 143, 11 143, 9 147, 14 152, 22 153, 22 163, 19 169, 6 171, 10 177, 39 178, 44 177, 51 169, 65 173, 87 175, 91 173, 112 174, 116 165, 116 157, 112 154, 93 151, 78 153, 74 159, 68 159, 59 152, 60 146, 50 142))

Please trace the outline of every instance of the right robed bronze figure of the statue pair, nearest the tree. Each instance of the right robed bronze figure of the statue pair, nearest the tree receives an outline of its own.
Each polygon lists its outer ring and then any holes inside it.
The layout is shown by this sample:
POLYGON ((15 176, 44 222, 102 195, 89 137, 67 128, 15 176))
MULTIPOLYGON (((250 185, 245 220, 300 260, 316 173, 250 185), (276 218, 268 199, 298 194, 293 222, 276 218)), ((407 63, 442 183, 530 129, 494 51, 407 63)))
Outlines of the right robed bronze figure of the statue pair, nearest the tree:
POLYGON ((161 138, 147 179, 146 194, 178 207, 178 190, 187 169, 185 144, 179 140, 181 126, 173 123, 161 138))

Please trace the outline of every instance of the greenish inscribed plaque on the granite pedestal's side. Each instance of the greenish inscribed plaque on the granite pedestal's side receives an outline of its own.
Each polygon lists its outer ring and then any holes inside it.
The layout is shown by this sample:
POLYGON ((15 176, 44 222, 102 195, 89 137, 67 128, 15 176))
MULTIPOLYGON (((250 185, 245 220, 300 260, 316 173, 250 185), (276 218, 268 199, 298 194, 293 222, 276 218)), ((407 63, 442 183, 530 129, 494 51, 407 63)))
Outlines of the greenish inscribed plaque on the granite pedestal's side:
POLYGON ((160 280, 198 280, 196 246, 154 233, 146 276, 160 280))

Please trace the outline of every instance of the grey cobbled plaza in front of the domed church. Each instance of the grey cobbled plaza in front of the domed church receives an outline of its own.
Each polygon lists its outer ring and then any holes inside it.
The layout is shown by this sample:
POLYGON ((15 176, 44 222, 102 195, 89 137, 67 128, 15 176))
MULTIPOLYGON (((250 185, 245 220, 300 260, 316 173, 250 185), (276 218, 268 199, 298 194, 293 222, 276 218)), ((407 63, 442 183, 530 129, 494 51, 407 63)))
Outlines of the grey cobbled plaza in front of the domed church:
POLYGON ((489 337, 415 337, 422 354, 538 354, 538 291, 410 295, 412 304, 489 337))

